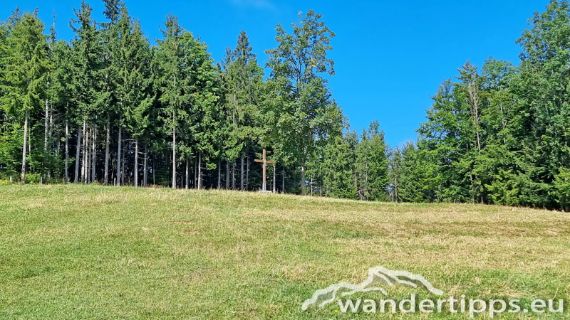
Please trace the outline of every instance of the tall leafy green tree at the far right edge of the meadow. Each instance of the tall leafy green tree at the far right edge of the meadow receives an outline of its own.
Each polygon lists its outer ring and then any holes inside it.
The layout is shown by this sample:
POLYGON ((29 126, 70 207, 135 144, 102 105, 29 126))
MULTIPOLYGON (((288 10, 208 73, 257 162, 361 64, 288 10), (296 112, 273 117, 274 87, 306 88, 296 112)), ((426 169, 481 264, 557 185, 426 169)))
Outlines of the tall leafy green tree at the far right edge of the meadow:
POLYGON ((564 195, 556 176, 570 167, 569 1, 550 1, 517 40, 522 46, 514 106, 514 137, 519 139, 517 188, 522 205, 555 208, 564 195))

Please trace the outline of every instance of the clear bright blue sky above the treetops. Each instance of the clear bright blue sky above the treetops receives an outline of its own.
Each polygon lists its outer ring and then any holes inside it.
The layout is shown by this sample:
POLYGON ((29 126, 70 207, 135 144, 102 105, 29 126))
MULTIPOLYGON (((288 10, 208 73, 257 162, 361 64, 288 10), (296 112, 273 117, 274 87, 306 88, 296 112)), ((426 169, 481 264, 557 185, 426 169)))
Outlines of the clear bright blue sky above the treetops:
MULTIPOLYGON (((152 42, 170 12, 185 28, 205 41, 219 60, 228 45, 235 46, 239 31, 249 35, 254 52, 264 63, 264 50, 274 48, 275 25, 289 26, 297 12, 314 9, 336 33, 331 58, 336 75, 333 96, 351 127, 361 132, 378 119, 391 146, 415 139, 437 85, 457 75, 466 60, 482 65, 489 56, 518 64, 514 41, 534 11, 544 11, 547 0, 449 1, 336 1, 336 0, 125 0, 130 14, 140 20, 152 42)), ((88 1, 95 18, 103 4, 88 1)), ((38 7, 50 25, 56 12, 58 37, 73 38, 68 21, 80 0, 6 0, 0 19, 16 6, 38 7)))

